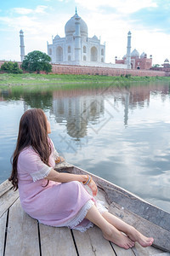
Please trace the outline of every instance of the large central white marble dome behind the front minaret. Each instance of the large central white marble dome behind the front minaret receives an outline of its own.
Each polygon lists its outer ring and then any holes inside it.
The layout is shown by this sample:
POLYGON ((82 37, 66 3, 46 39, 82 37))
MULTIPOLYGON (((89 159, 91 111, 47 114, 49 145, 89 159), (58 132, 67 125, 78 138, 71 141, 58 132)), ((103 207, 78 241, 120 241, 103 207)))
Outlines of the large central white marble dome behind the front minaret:
POLYGON ((75 32, 75 19, 80 18, 80 32, 84 36, 88 36, 88 26, 84 20, 82 20, 81 17, 79 17, 77 14, 72 16, 70 20, 68 20, 65 24, 65 36, 73 35, 75 32))

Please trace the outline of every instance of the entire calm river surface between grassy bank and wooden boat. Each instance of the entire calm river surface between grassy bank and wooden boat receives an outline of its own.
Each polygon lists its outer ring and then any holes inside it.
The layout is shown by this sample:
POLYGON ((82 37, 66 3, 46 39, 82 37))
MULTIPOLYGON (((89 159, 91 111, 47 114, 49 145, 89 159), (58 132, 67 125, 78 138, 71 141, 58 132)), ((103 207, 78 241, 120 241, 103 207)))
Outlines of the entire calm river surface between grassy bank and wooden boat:
POLYGON ((1 182, 21 114, 42 108, 66 160, 170 212, 169 91, 169 84, 1 90, 1 182))

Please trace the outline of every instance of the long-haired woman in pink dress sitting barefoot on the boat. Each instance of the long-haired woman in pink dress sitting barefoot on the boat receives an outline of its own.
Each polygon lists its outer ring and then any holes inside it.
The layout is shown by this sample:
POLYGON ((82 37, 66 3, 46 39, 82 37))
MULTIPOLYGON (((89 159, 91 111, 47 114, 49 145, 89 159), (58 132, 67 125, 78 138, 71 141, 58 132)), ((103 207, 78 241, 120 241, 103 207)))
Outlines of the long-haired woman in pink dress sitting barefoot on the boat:
POLYGON ((105 239, 125 249, 133 247, 135 241, 150 246, 152 237, 143 236, 106 210, 99 212, 93 197, 97 186, 91 177, 54 171, 55 160, 60 158, 48 137, 50 132, 41 109, 30 109, 22 115, 9 181, 14 189, 19 188, 23 209, 40 223, 55 227, 85 231, 96 224, 105 239), (82 183, 88 185, 93 196, 82 183))

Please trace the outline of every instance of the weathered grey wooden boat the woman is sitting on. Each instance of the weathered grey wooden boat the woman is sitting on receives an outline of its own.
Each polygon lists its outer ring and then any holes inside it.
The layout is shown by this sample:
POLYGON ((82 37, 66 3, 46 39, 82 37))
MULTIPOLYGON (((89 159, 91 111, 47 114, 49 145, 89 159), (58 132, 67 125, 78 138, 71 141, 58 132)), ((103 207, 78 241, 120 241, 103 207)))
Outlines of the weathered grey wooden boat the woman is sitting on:
POLYGON ((99 189, 97 199, 145 236, 153 236, 154 245, 144 248, 136 242, 135 247, 125 250, 106 241, 96 226, 81 233, 39 224, 22 210, 18 191, 5 181, 0 185, 0 255, 170 255, 170 213, 76 166, 62 163, 55 169, 92 175, 99 189))

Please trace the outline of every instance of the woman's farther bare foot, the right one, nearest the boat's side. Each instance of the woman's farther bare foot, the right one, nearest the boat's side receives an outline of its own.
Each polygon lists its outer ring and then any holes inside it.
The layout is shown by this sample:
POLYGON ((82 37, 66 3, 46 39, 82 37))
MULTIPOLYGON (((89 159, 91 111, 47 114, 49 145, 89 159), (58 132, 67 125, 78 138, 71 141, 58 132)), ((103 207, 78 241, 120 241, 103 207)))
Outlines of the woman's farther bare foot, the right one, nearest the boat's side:
POLYGON ((131 228, 131 232, 127 236, 132 241, 138 241, 142 247, 150 247, 154 241, 153 237, 147 237, 142 235, 138 230, 131 228))

